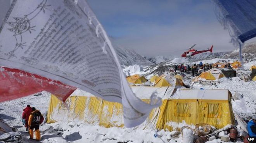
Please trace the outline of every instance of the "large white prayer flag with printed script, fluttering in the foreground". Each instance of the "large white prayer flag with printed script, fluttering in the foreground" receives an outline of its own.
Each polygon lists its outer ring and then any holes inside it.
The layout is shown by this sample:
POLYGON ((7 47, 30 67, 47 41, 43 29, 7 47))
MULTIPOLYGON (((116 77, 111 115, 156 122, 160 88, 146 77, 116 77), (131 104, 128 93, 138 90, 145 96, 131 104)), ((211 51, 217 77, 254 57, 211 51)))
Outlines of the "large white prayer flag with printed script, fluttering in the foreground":
POLYGON ((154 94, 149 104, 133 94, 85 0, 13 0, 0 26, 0 65, 121 103, 126 127, 141 124, 161 105, 154 94))

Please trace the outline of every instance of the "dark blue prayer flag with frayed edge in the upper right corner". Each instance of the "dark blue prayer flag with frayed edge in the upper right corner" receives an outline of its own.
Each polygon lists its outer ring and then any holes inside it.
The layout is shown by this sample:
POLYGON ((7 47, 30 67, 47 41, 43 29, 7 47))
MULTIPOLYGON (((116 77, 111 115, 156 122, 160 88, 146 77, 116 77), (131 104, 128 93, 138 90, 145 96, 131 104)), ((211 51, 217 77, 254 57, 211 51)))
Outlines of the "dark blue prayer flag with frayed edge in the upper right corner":
POLYGON ((227 29, 231 42, 239 47, 242 60, 242 47, 246 40, 256 37, 256 0, 213 0, 215 14, 224 29, 227 29))

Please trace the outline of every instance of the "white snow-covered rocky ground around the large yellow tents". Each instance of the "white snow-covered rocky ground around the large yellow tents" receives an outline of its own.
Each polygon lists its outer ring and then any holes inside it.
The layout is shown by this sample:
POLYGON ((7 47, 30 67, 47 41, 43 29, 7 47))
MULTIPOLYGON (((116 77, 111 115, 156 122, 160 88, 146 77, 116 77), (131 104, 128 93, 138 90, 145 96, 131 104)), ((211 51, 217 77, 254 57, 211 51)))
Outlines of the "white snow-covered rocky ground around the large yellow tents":
MULTIPOLYGON (((183 59, 176 59, 176 61, 166 62, 166 64, 175 64, 175 62, 176 64, 180 62, 187 62, 182 60, 183 59)), ((222 59, 213 59, 202 62, 214 63, 221 60, 222 59)), ((235 61, 236 59, 228 60, 235 61)), ((233 77, 230 79, 222 78, 219 81, 214 82, 192 82, 192 77, 189 75, 186 76, 187 78, 183 79, 185 84, 190 85, 192 89, 228 89, 233 96, 236 95, 236 97, 238 97, 236 98, 237 100, 232 100, 234 111, 236 111, 243 119, 248 120, 253 114, 256 114, 256 82, 246 82, 242 80, 241 76, 249 75, 249 68, 253 64, 256 64, 255 61, 246 63, 244 65, 245 70, 239 69, 237 71, 238 77, 233 77), (242 96, 239 96, 239 94, 242 96)), ((153 67, 152 69, 156 69, 156 67, 153 67)), ((141 73, 150 73, 152 69, 145 71, 145 69, 141 69, 140 67, 133 67, 130 70, 141 73)), ((148 75, 148 78, 150 76, 153 75, 148 75)), ((178 95, 178 92, 179 90, 177 90, 177 93, 174 94, 171 98, 175 98, 175 96, 178 95)), ((22 109, 24 109, 27 104, 30 104, 31 106, 39 109, 46 117, 49 100, 50 94, 43 92, 43 94, 40 96, 31 95, 24 98, 0 103, 0 119, 2 119, 9 126, 16 128, 17 131, 22 134, 22 142, 36 142, 28 140, 29 135, 27 132, 25 132, 25 128, 22 126, 22 109)), ((193 125, 187 125, 186 123, 170 124, 179 128, 182 126, 190 126, 194 128, 193 125)), ((143 130, 143 125, 135 128, 104 128, 98 125, 78 122, 53 124, 44 123, 43 126, 40 126, 40 130, 42 136, 42 140, 40 142, 42 143, 185 143, 185 140, 189 139, 189 137, 186 138, 185 136, 189 136, 190 134, 189 131, 184 131, 185 134, 183 138, 182 135, 176 136, 177 138, 175 138, 174 136, 171 137, 173 134, 175 134, 175 132, 163 130, 157 132, 153 128, 143 130)), ((208 141, 207 143, 219 142, 220 139, 215 139, 213 141, 208 141)), ((242 141, 237 141, 237 143, 242 143, 242 141)))

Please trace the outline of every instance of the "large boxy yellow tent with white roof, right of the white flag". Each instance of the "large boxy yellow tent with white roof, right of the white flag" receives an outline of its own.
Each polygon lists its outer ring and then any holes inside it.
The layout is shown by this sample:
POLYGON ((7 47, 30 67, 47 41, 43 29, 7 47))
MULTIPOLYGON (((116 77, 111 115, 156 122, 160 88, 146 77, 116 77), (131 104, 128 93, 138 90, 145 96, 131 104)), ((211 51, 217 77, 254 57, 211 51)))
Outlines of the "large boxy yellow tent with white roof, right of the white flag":
POLYGON ((179 99, 163 100, 156 128, 172 130, 171 124, 206 123, 216 128, 225 124, 234 124, 231 93, 227 89, 219 90, 181 90, 179 99))

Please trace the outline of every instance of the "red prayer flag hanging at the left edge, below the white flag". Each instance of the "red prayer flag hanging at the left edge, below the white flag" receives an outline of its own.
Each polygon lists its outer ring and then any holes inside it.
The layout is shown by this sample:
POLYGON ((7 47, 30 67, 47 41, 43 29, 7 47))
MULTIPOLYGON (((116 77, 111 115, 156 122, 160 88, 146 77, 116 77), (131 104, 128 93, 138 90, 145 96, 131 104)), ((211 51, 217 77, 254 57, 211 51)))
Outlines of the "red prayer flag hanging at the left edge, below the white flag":
POLYGON ((43 90, 54 94, 59 100, 65 101, 76 90, 75 87, 67 86, 60 81, 19 69, 0 67, 0 72, 0 102, 21 98, 43 90))

